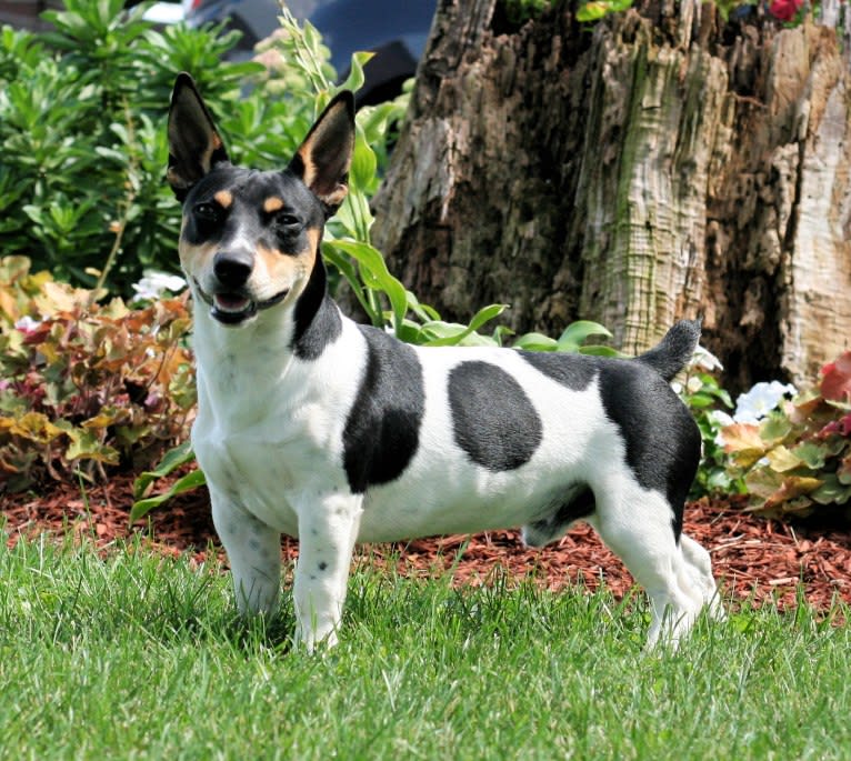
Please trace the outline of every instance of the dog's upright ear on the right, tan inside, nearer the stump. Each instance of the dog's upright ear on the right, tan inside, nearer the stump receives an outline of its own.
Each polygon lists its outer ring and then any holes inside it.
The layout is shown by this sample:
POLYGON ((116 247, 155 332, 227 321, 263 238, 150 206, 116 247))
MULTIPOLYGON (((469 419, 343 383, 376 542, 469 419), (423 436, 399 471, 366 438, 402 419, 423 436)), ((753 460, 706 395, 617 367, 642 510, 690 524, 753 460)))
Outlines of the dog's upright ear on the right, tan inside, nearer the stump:
POLYGON ((343 90, 317 119, 289 167, 322 201, 328 217, 349 192, 353 149, 354 96, 343 90))

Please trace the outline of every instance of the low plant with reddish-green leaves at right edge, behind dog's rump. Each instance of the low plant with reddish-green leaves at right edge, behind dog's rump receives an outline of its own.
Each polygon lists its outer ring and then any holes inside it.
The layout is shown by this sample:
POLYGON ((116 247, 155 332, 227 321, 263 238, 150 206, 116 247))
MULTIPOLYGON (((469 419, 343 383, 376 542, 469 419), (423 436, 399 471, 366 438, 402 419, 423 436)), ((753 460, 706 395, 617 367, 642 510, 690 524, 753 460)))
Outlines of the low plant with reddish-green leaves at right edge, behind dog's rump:
POLYGON ((761 512, 851 507, 851 352, 822 368, 818 390, 792 401, 783 398, 788 391, 778 384, 745 398, 762 394, 764 408, 765 394, 773 394, 779 407, 723 429, 731 473, 744 478, 761 512))

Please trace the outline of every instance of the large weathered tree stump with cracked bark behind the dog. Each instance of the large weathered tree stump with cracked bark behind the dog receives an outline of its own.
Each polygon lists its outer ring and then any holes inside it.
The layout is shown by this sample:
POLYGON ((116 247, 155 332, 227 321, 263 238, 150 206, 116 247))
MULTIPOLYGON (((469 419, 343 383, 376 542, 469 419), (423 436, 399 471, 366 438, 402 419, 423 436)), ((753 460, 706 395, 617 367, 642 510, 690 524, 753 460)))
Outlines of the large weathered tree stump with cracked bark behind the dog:
POLYGON ((452 319, 507 300, 517 330, 595 319, 633 352, 702 313, 732 385, 812 378, 851 332, 835 37, 637 4, 588 32, 442 0, 374 240, 452 319))

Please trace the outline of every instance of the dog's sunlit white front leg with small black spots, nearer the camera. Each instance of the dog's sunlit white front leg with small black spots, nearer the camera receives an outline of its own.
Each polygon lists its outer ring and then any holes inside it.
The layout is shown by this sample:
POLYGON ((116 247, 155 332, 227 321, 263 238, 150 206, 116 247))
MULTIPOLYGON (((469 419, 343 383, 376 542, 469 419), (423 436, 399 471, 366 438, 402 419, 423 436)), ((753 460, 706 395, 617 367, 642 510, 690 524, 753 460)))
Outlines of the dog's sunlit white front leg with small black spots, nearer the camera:
POLYGON ((296 564, 297 641, 312 652, 317 644, 337 644, 349 580, 352 549, 363 497, 326 494, 297 501, 299 560, 296 564))

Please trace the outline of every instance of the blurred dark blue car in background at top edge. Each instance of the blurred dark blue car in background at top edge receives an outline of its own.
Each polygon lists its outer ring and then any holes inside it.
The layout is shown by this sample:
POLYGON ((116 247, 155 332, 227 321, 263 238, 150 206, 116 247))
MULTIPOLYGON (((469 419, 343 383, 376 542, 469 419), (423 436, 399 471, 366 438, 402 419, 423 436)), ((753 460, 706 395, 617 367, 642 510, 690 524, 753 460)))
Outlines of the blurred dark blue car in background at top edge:
MULTIPOLYGON (((353 52, 374 53, 358 91, 358 106, 367 106, 393 98, 417 72, 437 0, 289 0, 287 7, 320 31, 341 78, 353 52)), ((224 22, 226 29, 242 32, 234 58, 250 58, 254 46, 278 29, 279 13, 278 0, 183 0, 189 26, 224 22)))

